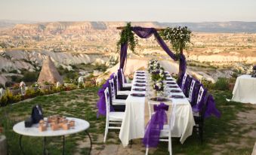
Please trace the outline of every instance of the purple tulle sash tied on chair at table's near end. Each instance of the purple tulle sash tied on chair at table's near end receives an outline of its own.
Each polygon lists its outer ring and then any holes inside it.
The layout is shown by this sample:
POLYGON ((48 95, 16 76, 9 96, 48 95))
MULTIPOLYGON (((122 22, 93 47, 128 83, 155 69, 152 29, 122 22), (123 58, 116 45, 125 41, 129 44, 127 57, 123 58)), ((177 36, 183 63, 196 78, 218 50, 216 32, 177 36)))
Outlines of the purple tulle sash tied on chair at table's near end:
POLYGON ((157 147, 159 144, 160 132, 165 123, 167 123, 167 114, 169 106, 161 102, 160 105, 154 105, 155 114, 152 115, 151 120, 147 123, 146 132, 143 138, 143 144, 146 147, 157 147))

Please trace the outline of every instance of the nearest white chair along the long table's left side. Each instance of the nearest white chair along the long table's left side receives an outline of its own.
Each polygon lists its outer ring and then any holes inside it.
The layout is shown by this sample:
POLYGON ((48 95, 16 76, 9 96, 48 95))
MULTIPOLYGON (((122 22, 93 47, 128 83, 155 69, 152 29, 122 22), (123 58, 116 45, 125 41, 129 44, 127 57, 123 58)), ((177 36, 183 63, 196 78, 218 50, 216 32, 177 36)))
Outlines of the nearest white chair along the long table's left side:
POLYGON ((105 135, 104 135, 104 143, 106 142, 106 135, 109 129, 121 129, 119 126, 110 126, 110 124, 122 124, 122 120, 124 118, 124 112, 115 112, 110 111, 110 103, 109 103, 109 88, 106 87, 104 90, 105 93, 105 102, 106 102, 106 127, 105 127, 105 135))

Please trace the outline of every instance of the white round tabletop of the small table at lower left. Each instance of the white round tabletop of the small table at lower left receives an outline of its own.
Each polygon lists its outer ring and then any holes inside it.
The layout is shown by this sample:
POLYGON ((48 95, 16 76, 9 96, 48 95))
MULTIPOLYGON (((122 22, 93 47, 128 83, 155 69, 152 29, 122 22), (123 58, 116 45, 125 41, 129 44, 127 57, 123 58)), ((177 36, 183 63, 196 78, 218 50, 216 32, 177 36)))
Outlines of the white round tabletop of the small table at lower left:
POLYGON ((78 132, 85 131, 90 127, 90 123, 86 120, 82 120, 79 118, 66 117, 68 120, 75 120, 75 126, 68 130, 59 129, 56 131, 51 130, 51 127, 48 126, 47 130, 44 132, 39 131, 39 124, 33 124, 32 127, 26 128, 24 121, 17 123, 14 125, 14 132, 17 132, 20 135, 28 135, 35 137, 53 137, 53 136, 61 136, 61 135, 70 135, 78 132))

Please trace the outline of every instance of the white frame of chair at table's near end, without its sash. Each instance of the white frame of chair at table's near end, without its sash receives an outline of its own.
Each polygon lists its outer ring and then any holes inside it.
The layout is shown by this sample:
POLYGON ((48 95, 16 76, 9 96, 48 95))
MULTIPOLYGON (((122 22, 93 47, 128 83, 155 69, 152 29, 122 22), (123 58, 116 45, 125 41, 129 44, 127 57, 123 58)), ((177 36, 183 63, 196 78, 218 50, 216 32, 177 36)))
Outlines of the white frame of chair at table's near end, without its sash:
MULTIPOLYGON (((148 102, 148 107, 150 110, 150 119, 153 114, 155 114, 153 110, 153 105, 159 105, 159 102, 148 102)), ((171 130, 174 127, 175 123, 175 111, 176 111, 176 105, 175 104, 168 104, 169 105, 169 110, 166 111, 167 116, 168 116, 168 123, 164 125, 163 129, 160 132, 160 138, 159 141, 168 141, 168 151, 170 155, 172 154, 172 149, 171 149, 171 130), (171 108, 171 109, 170 109, 171 108)), ((149 153, 149 147, 146 148, 146 155, 149 153)))

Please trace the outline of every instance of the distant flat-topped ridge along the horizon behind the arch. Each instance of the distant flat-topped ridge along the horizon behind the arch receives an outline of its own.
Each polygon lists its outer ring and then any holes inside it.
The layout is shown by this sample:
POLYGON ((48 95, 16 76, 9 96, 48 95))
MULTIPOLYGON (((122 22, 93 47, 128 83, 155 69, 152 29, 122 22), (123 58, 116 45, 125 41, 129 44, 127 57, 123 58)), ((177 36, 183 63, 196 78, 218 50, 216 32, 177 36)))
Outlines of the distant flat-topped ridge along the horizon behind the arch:
MULTIPOLYGON (((36 23, 29 21, 0 20, 0 29, 28 28, 45 30, 47 27, 57 26, 59 30, 79 26, 79 29, 114 29, 115 26, 124 26, 125 22, 48 22, 36 23)), ((202 22, 202 23, 159 23, 159 22, 133 22, 134 26, 145 27, 174 27, 187 26, 193 32, 256 32, 256 22, 202 22)))

